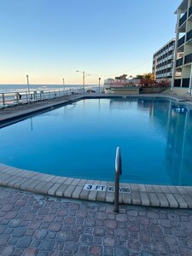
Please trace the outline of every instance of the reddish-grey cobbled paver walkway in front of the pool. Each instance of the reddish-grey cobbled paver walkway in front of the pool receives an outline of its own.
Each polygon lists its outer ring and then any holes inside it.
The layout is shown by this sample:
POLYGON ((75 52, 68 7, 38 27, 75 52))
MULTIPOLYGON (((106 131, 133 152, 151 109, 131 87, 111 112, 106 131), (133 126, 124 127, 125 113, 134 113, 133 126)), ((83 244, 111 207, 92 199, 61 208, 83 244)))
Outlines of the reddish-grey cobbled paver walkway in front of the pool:
POLYGON ((0 187, 0 255, 192 255, 192 211, 74 201, 0 187))

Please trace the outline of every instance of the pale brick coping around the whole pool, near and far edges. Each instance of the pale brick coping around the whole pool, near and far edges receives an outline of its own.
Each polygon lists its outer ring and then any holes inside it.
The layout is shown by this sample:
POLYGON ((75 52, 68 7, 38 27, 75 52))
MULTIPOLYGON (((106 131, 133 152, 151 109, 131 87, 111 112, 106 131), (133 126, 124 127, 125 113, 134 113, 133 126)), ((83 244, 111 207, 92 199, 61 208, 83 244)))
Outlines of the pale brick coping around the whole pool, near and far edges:
MULTIPOLYGON (((76 102, 84 97, 106 97, 101 95, 93 96, 69 96, 46 102, 37 102, 26 106, 18 106, 1 111, 0 127, 13 124, 26 119, 31 115, 59 108, 70 102, 76 102), (2 114, 3 113, 3 114, 2 114)), ((178 100, 170 95, 145 95, 137 97, 163 97, 178 100)), ((109 96, 108 96, 109 97, 109 96)), ((111 97, 111 96, 110 96, 111 97)), ((113 96, 117 97, 117 96, 113 96)), ((122 97, 122 96, 121 96, 122 97)), ((125 96, 123 96, 125 97, 125 96)), ((130 96, 127 96, 130 97, 130 96)), ((22 189, 34 193, 46 195, 56 195, 65 198, 113 202, 113 192, 108 188, 113 186, 113 182, 86 180, 72 177, 59 177, 39 172, 26 171, 13 166, 0 164, 0 185, 15 189, 22 189), (85 184, 105 187, 105 191, 84 189, 85 184)), ((95 186, 96 187, 96 186, 95 186)), ((129 193, 119 193, 119 203, 150 206, 150 207, 179 207, 192 208, 192 187, 191 186, 164 186, 145 185, 135 183, 120 183, 120 187, 128 188, 129 193)))

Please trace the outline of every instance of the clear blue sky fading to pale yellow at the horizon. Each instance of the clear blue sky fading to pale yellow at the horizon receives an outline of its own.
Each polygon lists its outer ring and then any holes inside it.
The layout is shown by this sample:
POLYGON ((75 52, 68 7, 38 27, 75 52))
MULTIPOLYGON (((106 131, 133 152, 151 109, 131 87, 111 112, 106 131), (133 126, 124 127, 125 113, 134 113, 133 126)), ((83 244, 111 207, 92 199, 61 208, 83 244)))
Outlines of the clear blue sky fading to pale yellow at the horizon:
POLYGON ((181 0, 0 0, 0 84, 101 84, 152 71, 181 0))

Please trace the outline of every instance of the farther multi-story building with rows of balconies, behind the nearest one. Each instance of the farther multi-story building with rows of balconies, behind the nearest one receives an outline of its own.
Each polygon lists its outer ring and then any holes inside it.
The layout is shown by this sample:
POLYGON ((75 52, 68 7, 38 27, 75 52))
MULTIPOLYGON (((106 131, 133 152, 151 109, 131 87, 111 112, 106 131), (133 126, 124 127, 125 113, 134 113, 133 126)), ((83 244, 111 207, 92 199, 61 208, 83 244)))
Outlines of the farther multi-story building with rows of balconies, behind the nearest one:
POLYGON ((154 79, 172 79, 174 49, 175 38, 154 53, 152 70, 154 79))

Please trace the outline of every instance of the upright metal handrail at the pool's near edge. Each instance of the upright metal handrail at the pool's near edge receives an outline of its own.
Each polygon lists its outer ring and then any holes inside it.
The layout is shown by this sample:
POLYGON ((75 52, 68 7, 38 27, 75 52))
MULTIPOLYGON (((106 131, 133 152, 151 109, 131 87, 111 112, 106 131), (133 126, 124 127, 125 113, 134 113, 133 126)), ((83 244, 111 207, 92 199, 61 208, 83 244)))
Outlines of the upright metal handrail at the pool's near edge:
POLYGON ((119 212, 119 175, 122 174, 120 148, 116 149, 115 182, 114 182, 114 212, 119 212))

